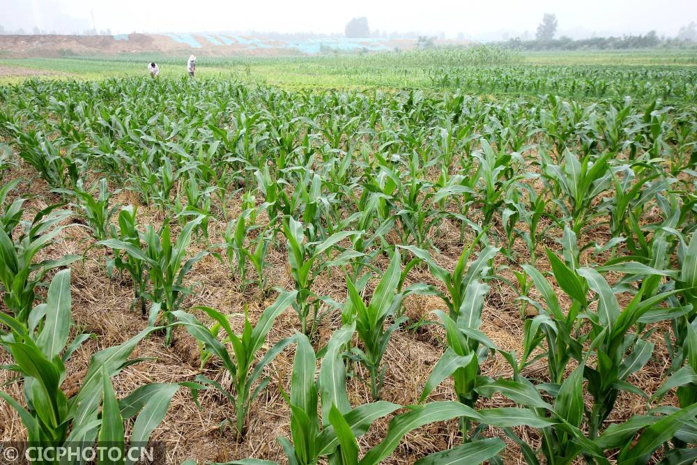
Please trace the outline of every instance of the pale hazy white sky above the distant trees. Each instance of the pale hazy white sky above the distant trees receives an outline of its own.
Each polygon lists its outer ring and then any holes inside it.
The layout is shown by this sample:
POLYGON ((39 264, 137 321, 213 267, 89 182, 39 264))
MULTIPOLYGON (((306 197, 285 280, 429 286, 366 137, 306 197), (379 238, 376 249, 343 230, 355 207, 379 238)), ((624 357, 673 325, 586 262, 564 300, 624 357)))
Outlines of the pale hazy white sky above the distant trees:
MULTIPOLYGON (((351 17, 368 18, 371 29, 421 31, 468 37, 504 31, 535 32, 543 13, 556 13, 559 33, 590 36, 643 33, 675 35, 697 21, 697 0, 0 0, 0 24, 56 29, 56 11, 65 22, 91 24, 112 33, 133 31, 314 31, 343 32, 351 17), (33 8, 32 8, 33 7, 33 8), (42 15, 41 10, 48 10, 42 15), (43 23, 43 24, 37 24, 43 23), (21 25, 20 25, 21 24, 21 25)), ((70 26, 68 26, 70 29, 70 26)), ((69 31, 60 31, 69 32, 69 31)))

